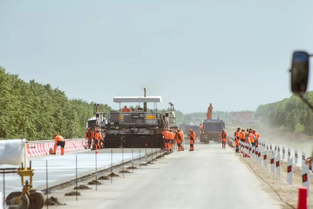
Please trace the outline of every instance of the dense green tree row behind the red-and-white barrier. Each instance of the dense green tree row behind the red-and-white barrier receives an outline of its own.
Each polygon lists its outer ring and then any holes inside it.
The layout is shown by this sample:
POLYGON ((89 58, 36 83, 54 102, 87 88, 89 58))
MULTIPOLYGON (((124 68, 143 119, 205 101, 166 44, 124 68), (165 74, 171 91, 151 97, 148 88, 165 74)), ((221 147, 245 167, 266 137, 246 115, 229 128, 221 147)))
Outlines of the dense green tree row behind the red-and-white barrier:
MULTIPOLYGON (((93 104, 68 99, 49 84, 27 83, 0 66, 0 139, 45 140, 55 133, 82 138, 88 119, 94 116, 93 104)), ((107 112, 111 107, 100 104, 98 109, 107 112)))

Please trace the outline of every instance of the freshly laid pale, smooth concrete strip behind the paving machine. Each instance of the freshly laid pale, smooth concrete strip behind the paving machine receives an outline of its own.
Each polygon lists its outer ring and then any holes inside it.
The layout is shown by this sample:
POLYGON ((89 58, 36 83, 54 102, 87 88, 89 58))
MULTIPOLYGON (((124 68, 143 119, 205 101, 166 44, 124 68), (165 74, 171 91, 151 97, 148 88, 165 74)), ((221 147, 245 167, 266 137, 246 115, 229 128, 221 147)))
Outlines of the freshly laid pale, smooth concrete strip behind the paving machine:
MULTIPOLYGON (((145 156, 145 149, 141 149, 141 157, 145 156)), ((153 150, 155 152, 155 149, 153 150)), ((139 149, 133 150, 134 159, 139 157, 139 149)), ((111 167, 111 149, 100 149, 97 154, 97 170, 111 167)), ((147 154, 151 149, 147 149, 147 154)), ((48 161, 48 186, 54 186, 76 178, 76 155, 78 177, 95 172, 95 151, 80 153, 65 153, 64 156, 48 156, 30 159, 34 169, 33 187, 37 190, 46 188, 46 160, 48 161)), ((122 149, 113 149, 113 166, 122 163, 122 149)), ((124 149, 124 162, 132 159, 132 150, 124 149)), ((29 165, 29 163, 28 163, 29 165)), ((10 167, 12 166, 1 166, 10 167)), ((28 178, 27 178, 28 179, 28 178)), ((26 179, 26 180, 27 180, 26 179)), ((3 192, 3 177, 1 176, 0 191, 3 192)), ((21 177, 17 174, 5 174, 5 195, 13 191, 22 191, 21 177)))

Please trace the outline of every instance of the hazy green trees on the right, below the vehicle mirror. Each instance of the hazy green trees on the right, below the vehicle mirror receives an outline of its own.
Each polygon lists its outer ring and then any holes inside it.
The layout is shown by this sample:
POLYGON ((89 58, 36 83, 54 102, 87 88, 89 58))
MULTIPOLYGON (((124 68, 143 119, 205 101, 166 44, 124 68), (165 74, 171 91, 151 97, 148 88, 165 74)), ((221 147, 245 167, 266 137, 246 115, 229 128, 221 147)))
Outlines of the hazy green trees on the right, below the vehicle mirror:
MULTIPOLYGON (((304 97, 311 104, 313 103, 313 91, 308 91, 304 97)), ((307 135, 313 134, 313 111, 296 95, 279 102, 259 105, 255 116, 260 117, 263 123, 275 128, 290 132, 303 132, 307 135)))

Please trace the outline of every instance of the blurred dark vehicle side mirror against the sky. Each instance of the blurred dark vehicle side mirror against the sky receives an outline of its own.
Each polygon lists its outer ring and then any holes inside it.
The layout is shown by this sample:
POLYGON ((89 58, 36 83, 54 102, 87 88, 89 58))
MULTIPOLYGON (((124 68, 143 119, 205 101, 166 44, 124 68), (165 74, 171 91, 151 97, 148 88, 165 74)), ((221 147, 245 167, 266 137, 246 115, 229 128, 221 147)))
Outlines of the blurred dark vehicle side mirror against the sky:
POLYGON ((309 77, 309 54, 305 51, 295 51, 291 63, 291 91, 303 94, 306 91, 309 77))

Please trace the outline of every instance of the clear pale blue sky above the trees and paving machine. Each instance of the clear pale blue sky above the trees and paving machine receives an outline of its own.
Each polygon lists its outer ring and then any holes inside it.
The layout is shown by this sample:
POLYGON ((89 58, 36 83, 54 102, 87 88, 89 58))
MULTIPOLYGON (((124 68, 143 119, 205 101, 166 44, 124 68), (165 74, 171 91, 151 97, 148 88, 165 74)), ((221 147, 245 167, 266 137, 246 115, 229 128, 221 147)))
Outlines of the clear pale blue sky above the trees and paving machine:
POLYGON ((290 97, 292 51, 313 53, 312 11, 312 0, 0 0, 0 66, 115 109, 114 96, 146 88, 158 108, 255 110, 290 97))

